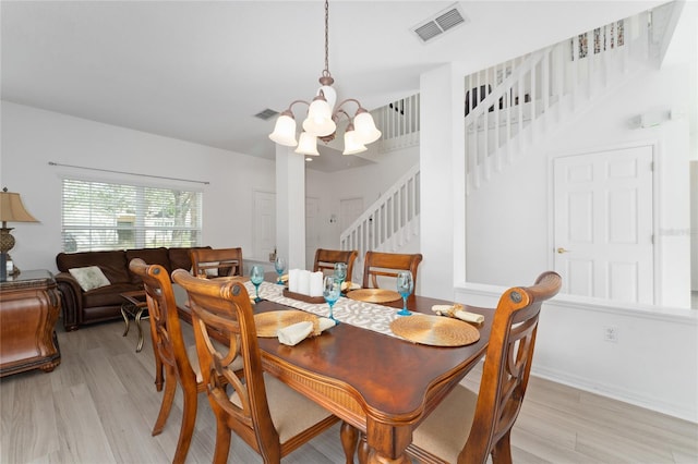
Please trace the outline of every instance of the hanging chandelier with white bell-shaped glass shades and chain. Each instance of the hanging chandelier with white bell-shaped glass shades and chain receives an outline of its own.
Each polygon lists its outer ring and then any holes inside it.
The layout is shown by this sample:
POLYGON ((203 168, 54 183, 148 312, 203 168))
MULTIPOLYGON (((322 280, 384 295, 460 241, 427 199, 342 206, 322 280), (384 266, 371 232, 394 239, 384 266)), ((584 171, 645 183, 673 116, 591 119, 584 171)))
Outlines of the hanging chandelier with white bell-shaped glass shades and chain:
POLYGON ((337 122, 344 115, 348 120, 345 130, 345 149, 342 155, 354 155, 366 150, 366 145, 381 138, 381 131, 375 127, 373 117, 361 106, 356 98, 347 98, 335 107, 337 93, 332 87, 335 80, 329 73, 329 5, 325 0, 325 69, 320 76, 320 89, 312 102, 294 100, 276 120, 274 132, 269 138, 279 145, 297 147, 296 152, 302 155, 320 155, 317 152, 317 139, 325 144, 335 138, 337 122), (300 142, 296 141, 296 119, 292 108, 297 103, 308 106, 308 114, 303 121, 303 131, 300 142), (347 103, 356 103, 353 118, 344 109, 347 103))

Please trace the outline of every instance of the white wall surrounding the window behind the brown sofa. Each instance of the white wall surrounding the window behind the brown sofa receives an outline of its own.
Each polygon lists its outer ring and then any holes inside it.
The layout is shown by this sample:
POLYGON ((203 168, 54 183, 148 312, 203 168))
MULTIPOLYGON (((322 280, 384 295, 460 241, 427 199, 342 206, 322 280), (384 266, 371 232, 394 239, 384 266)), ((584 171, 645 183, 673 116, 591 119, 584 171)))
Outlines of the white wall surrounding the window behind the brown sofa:
MULTIPOLYGON (((274 161, 2 101, 0 185, 22 195, 39 223, 13 223, 20 269, 56 271, 61 175, 185 185, 204 193, 203 244, 252 249, 252 192, 274 188, 274 161), (208 185, 58 168, 49 161, 208 185)), ((245 256, 252 258, 252 256, 245 256)))

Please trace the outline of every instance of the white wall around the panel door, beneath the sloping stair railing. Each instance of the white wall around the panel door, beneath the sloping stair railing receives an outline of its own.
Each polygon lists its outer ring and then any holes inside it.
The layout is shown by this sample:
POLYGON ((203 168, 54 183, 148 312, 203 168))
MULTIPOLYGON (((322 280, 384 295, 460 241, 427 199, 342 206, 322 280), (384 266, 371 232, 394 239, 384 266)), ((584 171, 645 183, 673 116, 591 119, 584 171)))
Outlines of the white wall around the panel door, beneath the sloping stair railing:
POLYGON ((532 152, 469 195, 468 281, 526 282, 552 265, 552 212, 546 206, 553 158, 654 145, 654 243, 660 253, 655 297, 665 306, 690 307, 688 76, 688 68, 681 65, 636 74, 602 103, 569 121, 544 146, 535 145, 532 152), (674 119, 659 126, 634 125, 642 113, 669 110, 674 119), (503 228, 505 219, 516 228, 503 228), (506 257, 507 266, 498 266, 493 256, 506 257))

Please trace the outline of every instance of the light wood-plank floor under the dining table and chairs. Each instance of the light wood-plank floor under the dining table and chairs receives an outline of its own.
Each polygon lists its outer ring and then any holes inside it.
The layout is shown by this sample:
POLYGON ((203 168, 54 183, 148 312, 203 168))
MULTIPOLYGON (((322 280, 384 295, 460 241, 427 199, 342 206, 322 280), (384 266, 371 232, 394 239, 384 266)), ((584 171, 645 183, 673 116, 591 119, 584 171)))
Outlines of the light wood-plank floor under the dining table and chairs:
MULTIPOLYGON (((57 328, 62 363, 53 373, 1 379, 0 462, 170 462, 181 395, 165 431, 152 437, 160 393, 147 323, 141 353, 133 326, 121 337, 122 321, 69 333, 57 328)), ((466 382, 477 386, 478 375, 466 382)), ((209 463, 215 420, 205 394, 198 399, 188 462, 209 463)), ((512 441, 516 463, 698 463, 698 425, 538 378, 531 379, 512 441)), ((229 462, 261 460, 233 437, 229 462)), ((285 460, 341 462, 338 426, 285 460)))

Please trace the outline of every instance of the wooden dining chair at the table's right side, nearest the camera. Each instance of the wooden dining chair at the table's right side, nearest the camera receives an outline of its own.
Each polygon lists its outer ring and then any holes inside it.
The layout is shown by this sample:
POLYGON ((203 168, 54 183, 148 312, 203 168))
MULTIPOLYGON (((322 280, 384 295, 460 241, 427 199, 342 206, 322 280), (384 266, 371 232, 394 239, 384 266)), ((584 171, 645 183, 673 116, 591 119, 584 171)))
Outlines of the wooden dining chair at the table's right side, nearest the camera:
POLYGON ((407 452, 422 463, 510 463, 510 432, 528 384, 541 304, 562 285, 544 272, 533 286, 504 292, 494 313, 479 393, 462 384, 412 434, 407 452))

